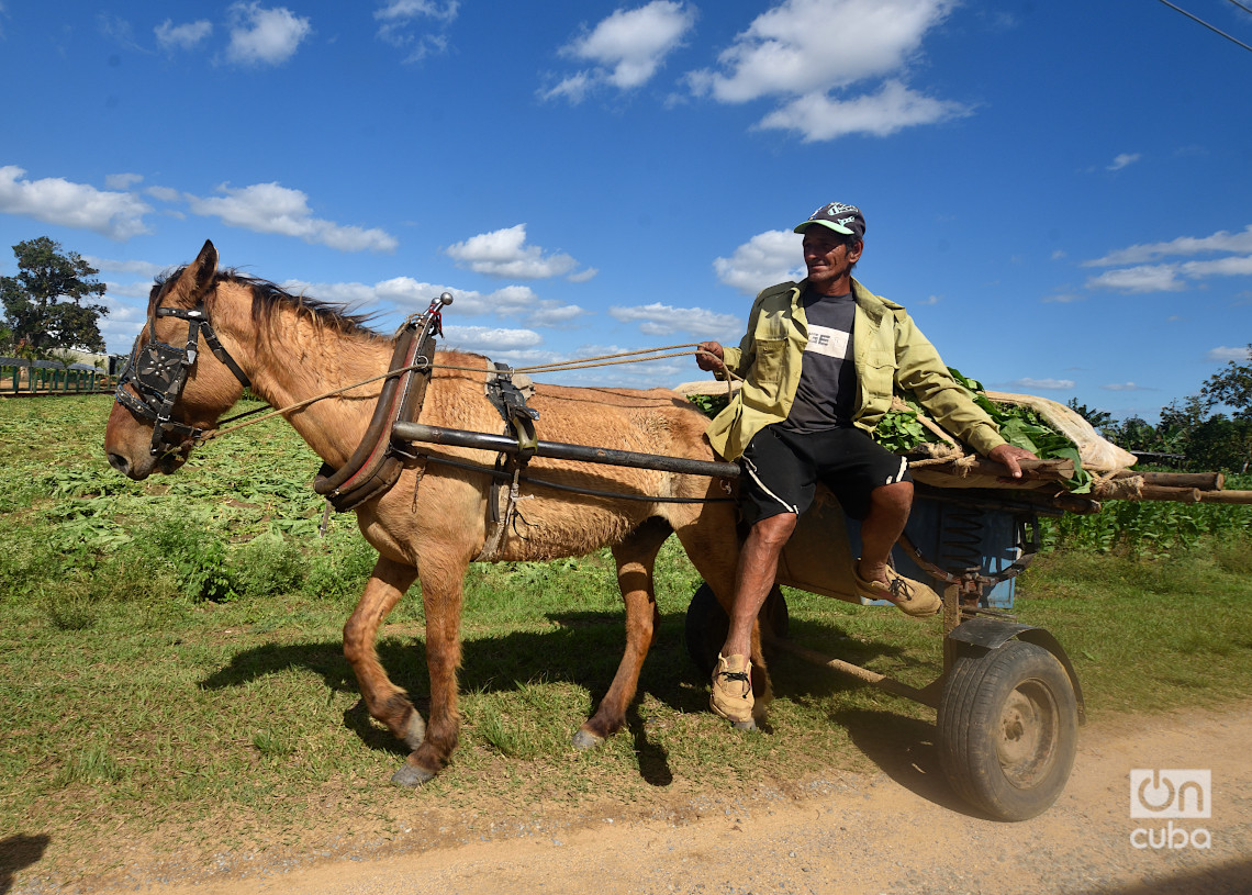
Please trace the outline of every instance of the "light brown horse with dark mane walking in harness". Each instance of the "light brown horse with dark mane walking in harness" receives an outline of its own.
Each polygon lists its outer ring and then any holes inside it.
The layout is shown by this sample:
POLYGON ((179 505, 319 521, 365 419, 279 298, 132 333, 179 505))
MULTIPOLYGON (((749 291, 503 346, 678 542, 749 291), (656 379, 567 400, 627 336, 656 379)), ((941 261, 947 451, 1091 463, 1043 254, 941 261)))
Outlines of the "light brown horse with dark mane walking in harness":
MULTIPOLYGON (((150 413, 135 411, 134 398, 143 388, 134 383, 123 387, 128 394, 119 394, 109 417, 105 451, 114 468, 130 478, 143 479, 153 471, 170 473, 182 466, 194 446, 194 429, 214 427, 239 399, 240 383, 248 379, 255 394, 274 407, 289 407, 388 369, 392 340, 367 329, 362 318, 217 268, 217 249, 205 243, 195 262, 153 287, 148 324, 134 357, 145 345, 177 354, 175 347, 190 343, 198 352, 183 355, 190 364, 185 383, 165 396, 172 402, 167 404, 168 419, 155 429, 150 413), (172 433, 174 439, 168 442, 172 433)), ((500 432, 500 414, 485 397, 490 368, 480 355, 439 352, 419 422, 500 432), (472 369, 449 369, 457 367, 472 369)), ((323 461, 338 468, 366 432, 379 386, 361 386, 284 416, 323 461)), ((707 421, 674 392, 537 386, 530 406, 540 413, 545 441, 712 459, 702 438, 707 421)), ((478 469, 490 466, 495 453, 428 447, 422 446, 429 461, 409 462, 391 491, 356 509, 362 533, 378 551, 378 563, 343 628, 343 651, 369 713, 412 750, 393 777, 407 786, 433 777, 456 747, 463 578, 493 528, 491 477, 478 469), (374 648, 383 618, 414 578, 421 580, 426 607, 432 691, 428 726, 407 693, 387 677, 374 648)), ((722 497, 721 482, 702 476, 538 457, 530 469, 537 478, 600 493, 527 488, 523 482, 521 521, 506 532, 493 558, 551 560, 608 546, 626 603, 621 665, 596 713, 573 737, 578 747, 590 747, 625 722, 656 636, 652 565, 661 545, 676 533, 696 570, 726 605, 739 557, 734 509, 725 501, 664 502, 722 497)), ((752 653, 760 670, 752 682, 756 705, 764 711, 770 698, 769 678, 755 635, 752 653)))

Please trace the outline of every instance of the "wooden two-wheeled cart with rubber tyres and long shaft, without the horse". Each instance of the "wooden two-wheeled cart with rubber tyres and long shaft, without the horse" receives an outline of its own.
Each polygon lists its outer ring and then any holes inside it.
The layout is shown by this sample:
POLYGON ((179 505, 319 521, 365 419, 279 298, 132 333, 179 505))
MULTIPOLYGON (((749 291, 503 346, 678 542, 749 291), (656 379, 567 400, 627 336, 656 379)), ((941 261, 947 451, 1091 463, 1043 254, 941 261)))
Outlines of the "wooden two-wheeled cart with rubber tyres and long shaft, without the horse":
MULTIPOLYGON (((691 383, 680 392, 691 396, 705 387, 691 383)), ((1131 474, 1127 464, 1133 464, 1134 457, 1104 442, 1068 408, 1029 396, 997 397, 1045 409, 1053 426, 1083 446, 1084 461, 1106 472, 1114 467, 1099 481, 1103 497, 1198 502, 1207 494, 1208 499, 1248 502, 1246 492, 1223 492, 1221 476, 1213 473, 1131 474)), ((732 463, 542 441, 520 447, 515 436, 418 423, 397 423, 393 433, 414 442, 506 456, 528 452, 724 479, 739 474, 732 463)), ((920 461, 916 499, 893 551, 899 571, 928 581, 943 597, 943 667, 934 681, 918 688, 789 640, 784 586, 856 605, 890 606, 856 593, 849 570, 860 553, 859 523, 820 487, 819 499, 800 518, 782 551, 775 587, 761 610, 761 633, 774 651, 935 708, 940 762, 953 790, 992 817, 1025 820, 1048 810, 1064 790, 1085 707, 1078 675, 1062 645, 1047 630, 1022 623, 1013 615, 1014 580, 1039 550, 1040 517, 1099 512, 1101 504, 1059 486, 1073 476, 1072 461, 1023 462, 1019 488, 1004 487, 998 471, 987 463, 972 457, 964 461, 949 456, 931 468, 925 466, 930 461, 920 461), (994 487, 970 487, 979 484, 994 487)), ((685 642, 705 676, 716 667, 727 626, 712 588, 702 585, 687 607, 685 642)))

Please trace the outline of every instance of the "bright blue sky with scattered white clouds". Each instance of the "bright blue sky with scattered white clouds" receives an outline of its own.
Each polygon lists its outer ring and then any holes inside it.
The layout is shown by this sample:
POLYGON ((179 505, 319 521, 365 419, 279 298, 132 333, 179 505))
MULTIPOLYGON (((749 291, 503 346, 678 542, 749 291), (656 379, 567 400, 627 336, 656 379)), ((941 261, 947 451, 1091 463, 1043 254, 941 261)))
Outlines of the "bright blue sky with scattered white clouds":
POLYGON ((516 366, 735 343, 826 202, 989 388, 1154 419, 1252 342, 1252 53, 1153 0, 0 0, 0 243, 98 267, 113 352, 207 238, 516 366))

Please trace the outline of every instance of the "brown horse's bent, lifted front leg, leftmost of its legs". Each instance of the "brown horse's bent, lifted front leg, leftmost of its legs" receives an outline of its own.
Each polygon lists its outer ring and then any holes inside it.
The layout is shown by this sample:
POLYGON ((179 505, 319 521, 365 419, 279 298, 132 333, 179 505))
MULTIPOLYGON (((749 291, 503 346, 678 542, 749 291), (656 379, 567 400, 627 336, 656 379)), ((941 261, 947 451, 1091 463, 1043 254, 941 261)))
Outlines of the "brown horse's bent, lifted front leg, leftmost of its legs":
POLYGON ((357 675, 361 695, 369 713, 387 725, 409 749, 417 749, 426 736, 422 715, 409 702, 408 695, 391 682, 374 642, 387 613, 408 591, 417 570, 384 557, 378 557, 366 592, 343 626, 343 655, 357 675))

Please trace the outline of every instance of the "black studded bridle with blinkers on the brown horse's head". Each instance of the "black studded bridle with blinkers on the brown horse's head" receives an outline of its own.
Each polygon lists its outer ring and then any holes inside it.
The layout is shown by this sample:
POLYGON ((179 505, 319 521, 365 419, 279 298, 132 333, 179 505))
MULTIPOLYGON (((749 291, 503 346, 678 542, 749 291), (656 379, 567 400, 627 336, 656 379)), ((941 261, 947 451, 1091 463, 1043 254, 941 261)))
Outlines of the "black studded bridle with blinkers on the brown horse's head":
POLYGON ((248 388, 252 381, 222 347, 218 334, 213 332, 213 324, 209 323, 203 302, 190 309, 156 308, 148 318, 145 329, 153 334, 151 339, 140 347, 139 340, 143 338, 143 330, 139 332, 135 347, 130 350, 130 359, 126 361, 126 366, 118 378, 118 391, 114 393, 114 399, 153 424, 151 454, 155 457, 175 451, 184 442, 195 441, 204 434, 204 429, 173 418, 174 404, 183 394, 188 373, 195 366, 197 345, 202 335, 213 355, 234 373, 235 379, 242 382, 244 388, 248 388), (187 320, 187 344, 183 348, 175 348, 156 339, 155 323, 158 317, 187 320), (126 386, 134 389, 134 394, 126 391, 126 386), (180 436, 179 442, 173 443, 167 438, 168 434, 180 436))

